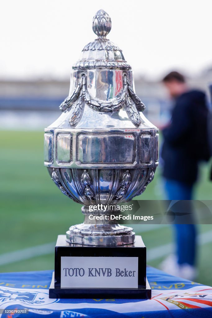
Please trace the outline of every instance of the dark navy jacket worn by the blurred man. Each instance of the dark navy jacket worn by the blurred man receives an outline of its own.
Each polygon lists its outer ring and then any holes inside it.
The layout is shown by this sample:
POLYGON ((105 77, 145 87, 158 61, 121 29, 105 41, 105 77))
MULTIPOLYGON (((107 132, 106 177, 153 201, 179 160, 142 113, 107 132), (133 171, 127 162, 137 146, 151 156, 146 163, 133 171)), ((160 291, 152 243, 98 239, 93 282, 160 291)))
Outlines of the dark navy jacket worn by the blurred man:
POLYGON ((172 111, 171 124, 163 129, 163 176, 193 184, 198 162, 208 160, 208 107, 205 93, 197 90, 179 96, 172 111))

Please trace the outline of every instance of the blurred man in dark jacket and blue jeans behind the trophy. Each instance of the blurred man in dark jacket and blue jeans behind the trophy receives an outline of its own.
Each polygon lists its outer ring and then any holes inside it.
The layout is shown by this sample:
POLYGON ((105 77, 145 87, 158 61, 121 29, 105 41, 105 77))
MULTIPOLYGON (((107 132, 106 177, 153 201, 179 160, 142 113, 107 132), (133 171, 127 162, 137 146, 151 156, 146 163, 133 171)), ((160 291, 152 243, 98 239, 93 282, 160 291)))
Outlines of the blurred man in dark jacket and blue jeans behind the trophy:
MULTIPOLYGON (((163 79, 174 99, 171 123, 163 129, 163 176, 168 200, 193 199, 198 162, 209 159, 205 93, 189 90, 185 78, 171 72, 163 79)), ((193 224, 174 225, 176 259, 162 263, 164 271, 193 280, 195 278, 196 227, 193 224)))

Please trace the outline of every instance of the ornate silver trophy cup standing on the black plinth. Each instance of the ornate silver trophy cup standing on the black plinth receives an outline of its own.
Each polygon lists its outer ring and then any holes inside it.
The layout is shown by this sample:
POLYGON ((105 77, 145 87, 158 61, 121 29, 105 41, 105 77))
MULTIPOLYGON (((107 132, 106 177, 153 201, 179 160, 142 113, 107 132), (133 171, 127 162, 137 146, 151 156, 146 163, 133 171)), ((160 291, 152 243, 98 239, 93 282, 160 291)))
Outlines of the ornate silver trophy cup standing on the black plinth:
POLYGON ((106 38, 111 18, 104 10, 93 17, 92 29, 97 38, 72 66, 62 114, 45 129, 44 164, 57 187, 83 204, 85 222, 69 228, 66 246, 133 246, 131 227, 92 224, 89 206, 117 205, 144 192, 158 165, 158 129, 142 114, 131 66, 106 38))

